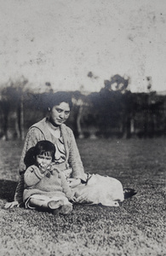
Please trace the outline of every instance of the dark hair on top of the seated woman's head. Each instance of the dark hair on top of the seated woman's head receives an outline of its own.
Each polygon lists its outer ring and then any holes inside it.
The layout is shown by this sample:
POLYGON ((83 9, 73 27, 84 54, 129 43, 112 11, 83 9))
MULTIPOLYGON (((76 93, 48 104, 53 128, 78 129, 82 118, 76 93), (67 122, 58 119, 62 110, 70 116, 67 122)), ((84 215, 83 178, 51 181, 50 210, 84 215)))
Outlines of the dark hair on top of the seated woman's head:
POLYGON ((53 108, 55 105, 60 105, 61 102, 69 104, 69 108, 72 108, 72 96, 70 92, 58 91, 49 95, 48 108, 53 108))

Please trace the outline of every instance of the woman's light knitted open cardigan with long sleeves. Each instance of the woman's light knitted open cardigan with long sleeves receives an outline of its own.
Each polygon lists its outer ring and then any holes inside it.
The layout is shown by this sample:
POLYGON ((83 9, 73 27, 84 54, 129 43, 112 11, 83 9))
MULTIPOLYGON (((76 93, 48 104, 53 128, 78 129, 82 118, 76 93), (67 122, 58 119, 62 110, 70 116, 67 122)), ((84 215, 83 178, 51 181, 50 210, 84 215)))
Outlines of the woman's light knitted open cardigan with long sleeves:
MULTIPOLYGON (((22 195, 24 190, 24 172, 26 171, 26 165, 24 163, 24 158, 26 156, 26 152, 29 148, 34 147, 37 142, 42 140, 48 140, 52 143, 53 137, 50 134, 50 131, 46 124, 46 118, 42 119, 35 125, 32 125, 27 132, 26 141, 24 144, 24 148, 22 150, 21 158, 20 158, 20 181, 15 191, 14 201, 22 202, 22 195)), ((83 163, 80 158, 80 154, 77 149, 77 144, 75 137, 73 135, 72 130, 67 127, 65 124, 60 125, 60 133, 63 138, 65 149, 66 149, 66 161, 58 167, 61 171, 66 169, 66 166, 72 167, 72 177, 80 178, 83 181, 86 181, 86 175, 83 170, 83 163)))

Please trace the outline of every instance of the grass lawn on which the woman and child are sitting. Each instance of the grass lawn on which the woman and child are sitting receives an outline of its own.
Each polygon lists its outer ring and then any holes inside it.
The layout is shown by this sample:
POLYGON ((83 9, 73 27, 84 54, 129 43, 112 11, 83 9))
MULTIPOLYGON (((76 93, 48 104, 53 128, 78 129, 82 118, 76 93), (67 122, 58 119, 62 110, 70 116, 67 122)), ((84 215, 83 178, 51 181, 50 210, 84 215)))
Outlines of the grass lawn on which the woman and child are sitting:
POLYGON ((0 255, 166 255, 166 139, 78 140, 85 172, 138 191, 120 207, 74 206, 68 216, 12 201, 23 143, 0 142, 0 255))

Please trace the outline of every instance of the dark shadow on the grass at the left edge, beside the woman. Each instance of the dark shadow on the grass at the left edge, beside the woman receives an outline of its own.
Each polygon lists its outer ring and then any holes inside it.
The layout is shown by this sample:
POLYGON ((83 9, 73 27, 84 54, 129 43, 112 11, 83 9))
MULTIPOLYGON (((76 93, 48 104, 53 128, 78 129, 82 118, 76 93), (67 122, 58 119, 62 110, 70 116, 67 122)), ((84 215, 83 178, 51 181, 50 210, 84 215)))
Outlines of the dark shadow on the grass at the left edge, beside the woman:
POLYGON ((0 180, 0 199, 14 201, 14 193, 17 187, 17 182, 12 180, 0 180))

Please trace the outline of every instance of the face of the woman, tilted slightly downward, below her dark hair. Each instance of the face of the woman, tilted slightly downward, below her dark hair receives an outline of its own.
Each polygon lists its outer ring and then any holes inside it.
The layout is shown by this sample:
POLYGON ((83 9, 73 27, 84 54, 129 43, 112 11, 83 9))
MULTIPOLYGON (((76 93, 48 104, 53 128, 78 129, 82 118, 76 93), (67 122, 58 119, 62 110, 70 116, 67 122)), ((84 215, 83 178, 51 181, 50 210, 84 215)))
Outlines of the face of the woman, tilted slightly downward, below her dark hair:
POLYGON ((66 102, 61 102, 60 105, 55 105, 49 114, 49 121, 54 126, 59 126, 66 122, 70 115, 70 107, 66 102))

